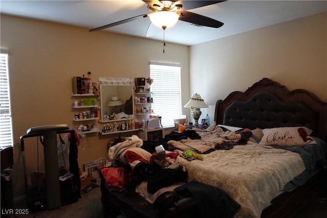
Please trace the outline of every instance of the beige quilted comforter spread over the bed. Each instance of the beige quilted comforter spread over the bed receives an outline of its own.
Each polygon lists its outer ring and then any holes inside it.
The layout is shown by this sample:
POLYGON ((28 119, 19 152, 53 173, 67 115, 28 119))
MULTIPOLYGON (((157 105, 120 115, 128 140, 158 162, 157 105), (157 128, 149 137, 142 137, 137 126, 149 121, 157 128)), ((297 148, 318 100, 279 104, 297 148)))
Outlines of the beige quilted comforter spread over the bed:
POLYGON ((203 157, 176 161, 185 165, 189 180, 217 186, 237 201, 241 208, 236 217, 260 217, 278 191, 305 170, 298 154, 252 142, 203 157))

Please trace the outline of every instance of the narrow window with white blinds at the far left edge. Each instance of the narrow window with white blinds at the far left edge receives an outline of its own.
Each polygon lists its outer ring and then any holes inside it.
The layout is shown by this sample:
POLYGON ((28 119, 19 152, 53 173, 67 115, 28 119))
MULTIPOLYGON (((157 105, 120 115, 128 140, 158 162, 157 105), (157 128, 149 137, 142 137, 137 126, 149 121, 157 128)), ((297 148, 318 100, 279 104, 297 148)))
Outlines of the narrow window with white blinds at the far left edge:
POLYGON ((8 52, 0 57, 0 147, 13 146, 10 110, 8 52))

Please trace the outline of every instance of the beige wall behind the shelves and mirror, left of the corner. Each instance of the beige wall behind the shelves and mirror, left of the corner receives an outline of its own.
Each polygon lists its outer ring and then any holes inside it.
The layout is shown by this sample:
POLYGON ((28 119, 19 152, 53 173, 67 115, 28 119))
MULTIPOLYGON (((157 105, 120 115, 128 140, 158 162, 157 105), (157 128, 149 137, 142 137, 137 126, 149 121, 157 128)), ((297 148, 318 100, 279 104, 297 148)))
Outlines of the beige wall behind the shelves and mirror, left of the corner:
MULTIPOLYGON (((149 61, 178 63, 186 90, 183 102, 189 99, 188 46, 167 43, 163 54, 160 41, 1 15, 1 47, 9 50, 15 197, 24 195, 19 137, 34 126, 73 124, 73 76, 91 71, 94 82, 98 77, 148 77, 149 61)), ((79 150, 80 167, 106 156, 110 137, 87 135, 88 147, 79 150)), ((27 172, 33 172, 37 169, 37 138, 24 141, 27 172)), ((43 170, 43 148, 39 147, 43 170)))

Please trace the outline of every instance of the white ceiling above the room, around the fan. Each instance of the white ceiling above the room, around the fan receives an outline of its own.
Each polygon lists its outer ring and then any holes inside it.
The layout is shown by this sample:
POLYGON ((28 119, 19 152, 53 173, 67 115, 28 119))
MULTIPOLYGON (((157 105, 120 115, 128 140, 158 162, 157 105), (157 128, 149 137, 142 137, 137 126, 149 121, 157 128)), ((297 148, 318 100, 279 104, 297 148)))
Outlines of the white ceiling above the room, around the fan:
MULTIPOLYGON (((224 23, 221 28, 197 27, 178 21, 165 32, 167 42, 194 45, 327 11, 327 1, 233 1, 190 10, 224 23)), ((0 1, 0 12, 15 16, 94 29, 149 13, 141 0, 109 1, 0 1)), ((109 31, 146 37, 149 18, 140 18, 109 31)), ((91 32, 89 34, 95 34, 91 32)), ((162 30, 151 25, 148 38, 162 40, 162 30)))

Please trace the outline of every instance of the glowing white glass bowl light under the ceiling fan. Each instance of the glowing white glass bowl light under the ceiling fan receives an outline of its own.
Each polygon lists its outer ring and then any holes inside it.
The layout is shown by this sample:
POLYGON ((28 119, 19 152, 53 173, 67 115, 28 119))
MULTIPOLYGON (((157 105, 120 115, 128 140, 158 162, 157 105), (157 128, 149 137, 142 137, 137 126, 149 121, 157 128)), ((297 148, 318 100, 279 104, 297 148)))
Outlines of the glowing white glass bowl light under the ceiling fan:
POLYGON ((155 26, 164 29, 174 26, 179 17, 177 13, 171 11, 158 11, 149 16, 155 26))

